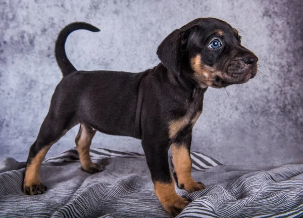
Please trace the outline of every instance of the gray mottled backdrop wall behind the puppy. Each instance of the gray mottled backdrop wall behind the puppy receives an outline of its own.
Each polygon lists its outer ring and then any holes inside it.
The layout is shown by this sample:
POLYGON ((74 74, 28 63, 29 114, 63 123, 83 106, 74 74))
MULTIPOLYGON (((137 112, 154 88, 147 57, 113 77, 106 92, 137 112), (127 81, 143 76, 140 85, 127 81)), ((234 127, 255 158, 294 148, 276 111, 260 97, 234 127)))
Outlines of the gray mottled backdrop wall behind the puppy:
MULTIPOLYGON (((279 165, 303 161, 302 1, 3 1, 0 0, 0 159, 26 160, 62 75, 54 42, 68 23, 67 41, 81 70, 139 72, 159 63, 159 43, 198 17, 239 28, 259 56, 260 73, 243 85, 210 88, 193 131, 192 150, 226 164, 279 165), (265 67, 266 66, 266 67, 265 67)), ((73 128, 48 156, 74 145, 73 128)), ((96 134, 94 147, 143 153, 139 140, 96 134)))

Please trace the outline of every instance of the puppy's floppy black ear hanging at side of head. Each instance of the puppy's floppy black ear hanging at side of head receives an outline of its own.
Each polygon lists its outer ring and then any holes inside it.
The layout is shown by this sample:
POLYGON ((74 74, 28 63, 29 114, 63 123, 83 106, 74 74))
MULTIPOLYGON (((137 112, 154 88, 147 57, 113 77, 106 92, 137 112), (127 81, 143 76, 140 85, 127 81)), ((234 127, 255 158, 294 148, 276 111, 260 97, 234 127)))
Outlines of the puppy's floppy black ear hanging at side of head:
POLYGON ((162 41, 157 50, 164 66, 177 74, 181 72, 182 38, 183 31, 176 29, 162 41))

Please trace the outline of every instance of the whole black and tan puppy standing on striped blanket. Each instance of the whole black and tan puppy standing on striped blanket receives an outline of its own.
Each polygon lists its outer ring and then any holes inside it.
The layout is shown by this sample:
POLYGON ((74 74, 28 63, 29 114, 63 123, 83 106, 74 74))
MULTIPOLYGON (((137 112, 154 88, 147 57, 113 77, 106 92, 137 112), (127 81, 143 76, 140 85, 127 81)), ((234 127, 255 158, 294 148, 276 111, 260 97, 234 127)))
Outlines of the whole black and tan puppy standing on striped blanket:
POLYGON ((46 152, 81 123, 75 142, 84 171, 103 170, 89 156, 96 130, 141 139, 155 193, 168 212, 178 214, 189 202, 174 189, 169 148, 178 186, 188 192, 205 188, 191 177, 189 156, 192 127, 202 112, 204 93, 209 86, 247 82, 257 73, 258 58, 241 46, 237 30, 228 23, 199 18, 164 39, 157 51, 161 63, 153 69, 141 73, 77 71, 64 49, 67 36, 77 29, 99 31, 77 22, 58 36, 55 52, 63 79, 30 148, 24 193, 46 190, 39 176, 46 152))

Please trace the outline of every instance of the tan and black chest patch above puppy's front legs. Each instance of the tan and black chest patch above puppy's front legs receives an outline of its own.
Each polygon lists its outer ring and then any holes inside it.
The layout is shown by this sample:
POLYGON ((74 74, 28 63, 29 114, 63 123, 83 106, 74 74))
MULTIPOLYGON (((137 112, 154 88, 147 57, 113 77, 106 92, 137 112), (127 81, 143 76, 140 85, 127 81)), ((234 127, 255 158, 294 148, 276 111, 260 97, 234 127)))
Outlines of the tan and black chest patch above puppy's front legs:
POLYGON ((192 101, 186 107, 184 115, 171 119, 168 123, 169 138, 171 140, 182 138, 186 136, 199 116, 203 109, 203 98, 192 101))

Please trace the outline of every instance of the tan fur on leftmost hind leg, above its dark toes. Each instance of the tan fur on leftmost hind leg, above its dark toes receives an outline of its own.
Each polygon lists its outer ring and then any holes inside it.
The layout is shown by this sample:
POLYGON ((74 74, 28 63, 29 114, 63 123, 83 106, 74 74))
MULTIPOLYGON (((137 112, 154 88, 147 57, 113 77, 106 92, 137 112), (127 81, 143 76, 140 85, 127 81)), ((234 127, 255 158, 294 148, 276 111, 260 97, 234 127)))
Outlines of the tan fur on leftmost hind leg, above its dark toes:
POLYGON ((40 180, 40 168, 42 161, 51 145, 45 146, 38 154, 31 160, 26 166, 24 186, 32 186, 41 183, 40 180))

